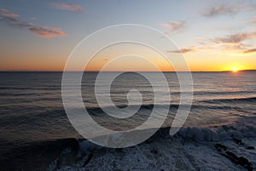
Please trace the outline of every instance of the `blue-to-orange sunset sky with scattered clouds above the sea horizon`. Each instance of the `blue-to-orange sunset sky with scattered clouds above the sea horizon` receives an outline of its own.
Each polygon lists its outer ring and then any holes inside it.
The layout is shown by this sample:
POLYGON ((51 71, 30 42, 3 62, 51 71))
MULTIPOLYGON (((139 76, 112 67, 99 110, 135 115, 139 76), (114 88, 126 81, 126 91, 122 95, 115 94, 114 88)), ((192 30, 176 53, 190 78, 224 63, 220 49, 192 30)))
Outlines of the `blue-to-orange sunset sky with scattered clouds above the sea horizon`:
MULTIPOLYGON (((191 71, 255 70, 255 16, 254 0, 0 0, 0 71, 63 71, 84 37, 120 24, 162 31, 179 48, 166 52, 183 54, 191 71)), ((106 54, 119 54, 115 49, 99 53, 87 70, 101 70, 106 54)), ((162 71, 172 71, 161 56, 150 50, 148 56, 162 71)), ((108 66, 119 70, 151 71, 133 56, 108 66)))

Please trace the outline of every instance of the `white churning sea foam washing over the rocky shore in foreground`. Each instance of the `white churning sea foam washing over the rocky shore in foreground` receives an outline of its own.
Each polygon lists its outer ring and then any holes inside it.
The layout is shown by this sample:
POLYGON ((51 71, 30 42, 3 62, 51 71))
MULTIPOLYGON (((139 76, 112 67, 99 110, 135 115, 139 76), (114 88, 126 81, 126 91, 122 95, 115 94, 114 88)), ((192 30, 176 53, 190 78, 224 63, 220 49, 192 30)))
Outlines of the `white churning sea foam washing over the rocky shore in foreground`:
POLYGON ((247 150, 248 145, 256 146, 255 117, 246 120, 213 128, 182 128, 175 136, 168 134, 169 128, 160 128, 149 140, 125 149, 98 148, 85 140, 79 149, 85 159, 54 170, 245 170, 215 145, 226 146, 226 151, 247 158, 255 167, 255 150, 247 150))

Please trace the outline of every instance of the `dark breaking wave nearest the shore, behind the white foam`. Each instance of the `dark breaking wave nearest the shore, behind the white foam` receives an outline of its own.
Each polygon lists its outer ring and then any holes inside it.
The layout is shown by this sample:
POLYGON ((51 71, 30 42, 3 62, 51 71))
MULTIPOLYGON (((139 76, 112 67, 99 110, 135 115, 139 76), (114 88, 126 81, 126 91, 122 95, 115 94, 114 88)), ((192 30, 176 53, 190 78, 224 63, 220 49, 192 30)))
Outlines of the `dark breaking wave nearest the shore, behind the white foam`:
MULTIPOLYGON (((168 148, 172 148, 171 154, 177 157, 177 155, 179 155, 179 152, 177 151, 181 150, 179 146, 176 146, 177 141, 189 143, 190 147, 191 145, 193 147, 193 145, 197 145, 196 143, 215 144, 218 142, 220 144, 224 144, 223 142, 226 142, 227 140, 231 140, 231 141, 236 140, 236 141, 242 142, 244 138, 250 138, 250 139, 255 138, 256 137, 256 127, 255 127, 256 117, 246 117, 241 119, 246 119, 246 121, 250 121, 250 122, 241 121, 241 123, 232 123, 230 125, 222 125, 218 127, 207 127, 207 128, 206 127, 181 128, 177 132, 177 134, 173 136, 169 134, 170 128, 160 128, 148 140, 144 141, 140 145, 129 147, 127 151, 108 149, 105 147, 101 147, 99 145, 95 145, 90 141, 84 140, 84 139, 67 138, 67 139, 59 139, 59 140, 37 141, 37 142, 29 143, 26 145, 22 145, 19 147, 19 149, 9 151, 8 154, 5 154, 4 161, 2 161, 3 163, 1 163, 1 167, 3 168, 3 170, 21 170, 21 169, 46 170, 46 168, 48 169, 53 168, 49 170, 59 170, 59 169, 61 170, 61 168, 67 167, 68 161, 70 162, 71 160, 73 160, 75 162, 80 161, 76 163, 75 165, 76 167, 84 168, 87 166, 90 167, 90 162, 92 160, 99 161, 100 159, 96 159, 96 157, 99 157, 99 155, 101 157, 102 154, 105 154, 104 157, 113 156, 113 158, 117 154, 122 154, 125 156, 131 155, 130 156, 131 158, 134 158, 134 157, 142 158, 145 156, 143 156, 143 154, 140 153, 140 151, 146 152, 148 156, 152 154, 164 155, 166 154, 165 151, 168 151, 168 148), (245 123, 247 123, 247 125, 245 125, 245 123), (159 145, 159 147, 157 147, 157 145, 159 145), (138 151, 136 155, 139 155, 139 156, 135 156, 135 154, 130 153, 130 151, 133 151, 134 149, 138 151), (161 151, 163 151, 163 153, 161 151), (68 155, 66 155, 67 153, 68 155), (44 160, 42 160, 42 158, 44 158, 44 160)), ((147 131, 147 130, 140 130, 140 131, 147 131)), ((195 150, 198 151, 199 150, 198 148, 199 147, 196 147, 195 150)), ((214 148, 214 147, 211 147, 211 148, 214 148)), ((185 149, 185 150, 188 150, 188 149, 185 149)), ((209 152, 208 154, 212 154, 212 151, 214 151, 214 149, 211 149, 207 152, 209 152)), ((161 160, 162 159, 164 158, 161 157, 161 160)), ((170 158, 168 158, 168 160, 170 160, 170 158)), ((119 160, 119 161, 122 161, 122 160, 119 160)), ((148 161, 150 162, 149 159, 148 161)), ((108 163, 108 162, 105 162, 105 163, 108 163)), ((131 163, 133 162, 127 162, 129 167, 131 167, 131 163)), ((73 170, 78 170, 78 169, 73 169, 73 170)))

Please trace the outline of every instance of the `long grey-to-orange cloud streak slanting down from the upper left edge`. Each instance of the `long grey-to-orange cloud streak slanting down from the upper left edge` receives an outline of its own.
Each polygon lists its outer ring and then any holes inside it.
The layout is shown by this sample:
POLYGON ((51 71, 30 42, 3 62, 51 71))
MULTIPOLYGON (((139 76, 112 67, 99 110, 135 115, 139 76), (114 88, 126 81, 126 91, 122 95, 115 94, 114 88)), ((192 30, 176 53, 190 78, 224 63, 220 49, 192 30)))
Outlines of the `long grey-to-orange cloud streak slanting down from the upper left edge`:
POLYGON ((0 9, 0 21, 4 21, 11 26, 24 27, 29 31, 46 38, 51 37, 67 37, 67 33, 61 31, 61 28, 36 26, 33 23, 20 20, 19 14, 10 13, 7 9, 0 9))

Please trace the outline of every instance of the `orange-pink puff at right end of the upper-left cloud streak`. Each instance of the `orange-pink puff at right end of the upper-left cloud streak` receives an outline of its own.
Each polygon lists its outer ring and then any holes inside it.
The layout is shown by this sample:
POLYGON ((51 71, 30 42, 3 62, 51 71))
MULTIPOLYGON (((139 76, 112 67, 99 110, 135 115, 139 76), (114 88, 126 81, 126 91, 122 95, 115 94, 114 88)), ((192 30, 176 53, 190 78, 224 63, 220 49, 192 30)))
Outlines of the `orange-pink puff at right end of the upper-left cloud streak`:
POLYGON ((61 31, 61 28, 53 28, 53 27, 31 27, 29 29, 30 31, 38 34, 42 37, 67 37, 67 34, 63 31, 61 31))

